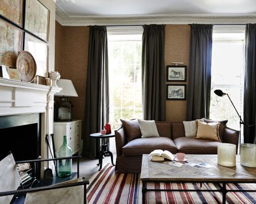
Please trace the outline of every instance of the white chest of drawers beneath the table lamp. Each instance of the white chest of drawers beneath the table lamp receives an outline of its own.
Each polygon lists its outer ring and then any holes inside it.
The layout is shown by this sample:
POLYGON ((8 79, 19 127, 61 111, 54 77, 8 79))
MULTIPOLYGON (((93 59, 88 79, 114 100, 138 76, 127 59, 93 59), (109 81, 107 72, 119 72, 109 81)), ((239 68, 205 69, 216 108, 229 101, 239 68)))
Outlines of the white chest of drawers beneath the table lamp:
POLYGON ((81 120, 70 122, 54 122, 54 143, 56 151, 62 146, 63 136, 67 136, 67 143, 72 148, 72 153, 81 149, 81 120))

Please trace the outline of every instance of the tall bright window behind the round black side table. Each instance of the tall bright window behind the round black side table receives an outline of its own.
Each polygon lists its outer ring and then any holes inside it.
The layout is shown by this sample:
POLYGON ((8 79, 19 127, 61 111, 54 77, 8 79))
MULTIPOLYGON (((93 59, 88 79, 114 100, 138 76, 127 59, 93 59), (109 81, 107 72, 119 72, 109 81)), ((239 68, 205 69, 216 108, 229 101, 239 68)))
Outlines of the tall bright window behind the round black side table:
POLYGON ((110 124, 142 117, 141 26, 107 28, 110 124))

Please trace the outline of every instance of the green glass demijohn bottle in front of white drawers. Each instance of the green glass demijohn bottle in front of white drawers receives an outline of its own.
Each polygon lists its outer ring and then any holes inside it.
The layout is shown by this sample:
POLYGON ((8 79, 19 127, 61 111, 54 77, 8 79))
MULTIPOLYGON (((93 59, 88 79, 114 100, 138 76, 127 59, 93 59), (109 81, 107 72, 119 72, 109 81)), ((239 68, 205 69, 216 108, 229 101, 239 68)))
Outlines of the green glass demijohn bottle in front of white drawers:
MULTIPOLYGON (((67 136, 63 136, 63 144, 57 151, 57 157, 72 157, 72 149, 67 144, 67 136)), ((59 177, 70 176, 72 173, 72 159, 57 160, 59 177)))

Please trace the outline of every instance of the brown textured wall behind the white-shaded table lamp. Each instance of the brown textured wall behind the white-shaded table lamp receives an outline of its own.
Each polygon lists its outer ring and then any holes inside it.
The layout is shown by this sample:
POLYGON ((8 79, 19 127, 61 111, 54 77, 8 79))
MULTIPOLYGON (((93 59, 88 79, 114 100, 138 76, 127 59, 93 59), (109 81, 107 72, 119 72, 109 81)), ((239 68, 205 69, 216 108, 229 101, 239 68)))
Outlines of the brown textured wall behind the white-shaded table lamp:
POLYGON ((72 101, 74 105, 72 117, 73 119, 82 119, 82 127, 85 122, 85 87, 88 42, 88 27, 61 26, 56 22, 55 70, 59 71, 62 79, 71 79, 75 86, 78 97, 70 97, 69 100, 72 101))

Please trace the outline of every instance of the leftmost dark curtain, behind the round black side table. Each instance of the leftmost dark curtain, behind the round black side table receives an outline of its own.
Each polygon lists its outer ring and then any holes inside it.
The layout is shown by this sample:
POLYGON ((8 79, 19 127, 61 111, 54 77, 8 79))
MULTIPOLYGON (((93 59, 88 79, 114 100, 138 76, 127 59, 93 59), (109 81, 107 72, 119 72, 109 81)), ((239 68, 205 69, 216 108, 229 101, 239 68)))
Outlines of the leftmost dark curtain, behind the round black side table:
POLYGON ((89 26, 83 154, 91 159, 97 157, 100 144, 89 135, 99 132, 105 122, 109 122, 107 29, 105 26, 89 26))

